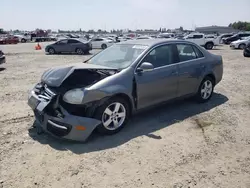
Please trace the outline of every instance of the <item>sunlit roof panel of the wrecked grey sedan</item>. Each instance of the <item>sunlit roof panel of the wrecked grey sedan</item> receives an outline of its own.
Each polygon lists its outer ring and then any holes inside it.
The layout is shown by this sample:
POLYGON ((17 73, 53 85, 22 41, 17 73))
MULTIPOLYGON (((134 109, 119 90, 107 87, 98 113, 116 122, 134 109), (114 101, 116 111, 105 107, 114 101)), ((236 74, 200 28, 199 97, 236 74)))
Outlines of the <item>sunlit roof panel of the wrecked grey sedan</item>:
POLYGON ((183 42, 183 40, 178 39, 161 39, 161 38, 153 38, 153 39, 140 39, 140 40, 128 40, 124 42, 120 42, 120 44, 134 44, 134 45, 147 45, 154 46, 166 42, 183 42))

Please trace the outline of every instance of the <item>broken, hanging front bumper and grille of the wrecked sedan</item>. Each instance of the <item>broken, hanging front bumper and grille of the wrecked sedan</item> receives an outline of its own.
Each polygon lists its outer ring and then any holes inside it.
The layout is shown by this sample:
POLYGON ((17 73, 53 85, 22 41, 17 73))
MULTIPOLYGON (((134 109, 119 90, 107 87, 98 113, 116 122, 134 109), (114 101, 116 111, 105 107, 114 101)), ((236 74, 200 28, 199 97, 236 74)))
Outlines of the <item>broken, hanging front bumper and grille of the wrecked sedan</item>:
POLYGON ((62 106, 60 106, 60 113, 48 113, 48 108, 52 108, 56 97, 57 95, 48 88, 45 88, 41 94, 36 92, 36 88, 30 92, 28 105, 34 111, 39 126, 55 137, 85 141, 101 121, 72 115, 62 106))

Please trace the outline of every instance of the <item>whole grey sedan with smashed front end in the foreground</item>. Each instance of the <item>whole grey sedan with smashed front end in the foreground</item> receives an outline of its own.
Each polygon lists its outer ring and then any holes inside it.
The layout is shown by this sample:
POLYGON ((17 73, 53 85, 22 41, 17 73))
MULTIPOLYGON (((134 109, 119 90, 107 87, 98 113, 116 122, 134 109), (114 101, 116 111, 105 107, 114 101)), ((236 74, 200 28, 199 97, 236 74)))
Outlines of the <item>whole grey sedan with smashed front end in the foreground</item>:
POLYGON ((138 110, 176 98, 207 102, 222 79, 222 57, 183 40, 131 40, 84 63, 47 70, 30 92, 37 126, 84 141, 120 131, 138 110))

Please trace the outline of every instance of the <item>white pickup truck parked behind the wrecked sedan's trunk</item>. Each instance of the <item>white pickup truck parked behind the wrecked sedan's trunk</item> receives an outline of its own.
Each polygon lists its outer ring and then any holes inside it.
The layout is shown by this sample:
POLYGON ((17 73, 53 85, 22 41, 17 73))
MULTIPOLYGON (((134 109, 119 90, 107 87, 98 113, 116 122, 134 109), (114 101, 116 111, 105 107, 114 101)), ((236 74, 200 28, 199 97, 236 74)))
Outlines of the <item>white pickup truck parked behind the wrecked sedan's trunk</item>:
POLYGON ((194 42, 207 50, 211 50, 214 46, 220 45, 220 37, 206 38, 203 33, 191 33, 185 36, 184 40, 194 42))

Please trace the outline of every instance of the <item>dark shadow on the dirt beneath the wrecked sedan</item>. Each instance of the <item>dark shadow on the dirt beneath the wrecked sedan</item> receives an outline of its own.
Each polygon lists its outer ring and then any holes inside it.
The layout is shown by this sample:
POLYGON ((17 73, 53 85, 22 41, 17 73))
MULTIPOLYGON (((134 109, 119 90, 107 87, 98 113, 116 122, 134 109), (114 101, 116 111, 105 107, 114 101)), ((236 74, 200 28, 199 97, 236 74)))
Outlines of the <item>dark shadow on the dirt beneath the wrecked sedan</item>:
POLYGON ((41 144, 48 144, 56 150, 70 150, 75 154, 89 153, 117 147, 142 135, 152 139, 161 139, 160 136, 154 135, 153 132, 209 111, 227 101, 226 96, 214 93, 211 100, 203 104, 195 103, 192 100, 179 100, 159 105, 154 110, 147 110, 135 115, 119 133, 102 136, 93 132, 85 143, 57 139, 47 133, 38 135, 34 128, 29 130, 29 135, 41 144))

